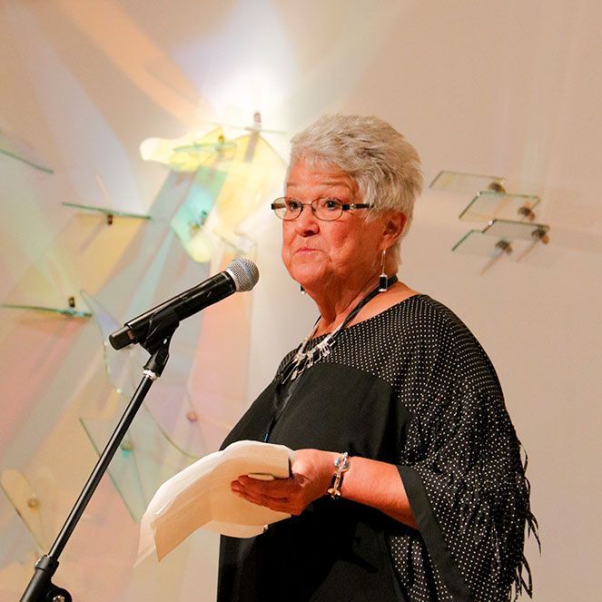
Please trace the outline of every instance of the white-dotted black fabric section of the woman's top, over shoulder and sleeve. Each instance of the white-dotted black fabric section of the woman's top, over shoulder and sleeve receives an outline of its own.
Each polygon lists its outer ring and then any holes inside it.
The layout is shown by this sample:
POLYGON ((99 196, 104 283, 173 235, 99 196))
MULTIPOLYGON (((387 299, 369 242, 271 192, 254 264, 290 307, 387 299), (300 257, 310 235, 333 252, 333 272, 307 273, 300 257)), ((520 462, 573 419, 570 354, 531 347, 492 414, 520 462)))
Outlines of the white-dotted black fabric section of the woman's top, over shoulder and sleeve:
MULTIPOLYGON (((449 554, 469 590, 462 599, 518 596, 526 585, 523 566, 528 569, 525 525, 537 523, 498 378, 468 328, 438 301, 417 295, 341 331, 323 361, 385 380, 410 412, 399 464, 418 475, 433 517, 419 529, 435 533, 443 552, 412 529, 389 538, 404 595, 411 602, 458 599, 453 571, 439 558, 449 554)), ((418 494, 412 498, 404 484, 414 508, 418 494)))

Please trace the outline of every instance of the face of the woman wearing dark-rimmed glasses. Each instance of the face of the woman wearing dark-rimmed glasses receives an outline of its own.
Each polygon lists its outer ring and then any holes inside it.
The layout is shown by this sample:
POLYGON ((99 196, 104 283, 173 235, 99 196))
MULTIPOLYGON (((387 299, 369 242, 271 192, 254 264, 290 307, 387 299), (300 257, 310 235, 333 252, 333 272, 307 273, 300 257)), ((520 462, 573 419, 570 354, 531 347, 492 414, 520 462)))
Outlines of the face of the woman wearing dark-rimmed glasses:
MULTIPOLYGON (((309 203, 320 197, 362 202, 358 185, 335 167, 295 163, 286 183, 286 196, 309 203)), ((343 212, 334 222, 322 222, 309 205, 291 222, 282 222, 282 261, 293 280, 308 291, 321 288, 361 288, 380 273, 385 220, 367 220, 366 209, 343 212)))

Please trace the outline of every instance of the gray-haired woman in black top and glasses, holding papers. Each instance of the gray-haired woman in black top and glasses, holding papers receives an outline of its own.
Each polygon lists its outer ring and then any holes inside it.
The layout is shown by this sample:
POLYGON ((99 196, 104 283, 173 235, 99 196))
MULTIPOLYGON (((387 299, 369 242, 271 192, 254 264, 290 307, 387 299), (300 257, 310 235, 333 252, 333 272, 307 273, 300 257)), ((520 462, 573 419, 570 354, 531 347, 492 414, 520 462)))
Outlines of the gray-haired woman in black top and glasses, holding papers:
POLYGON ((395 276, 421 183, 418 154, 380 119, 322 117, 292 139, 272 209, 319 318, 223 443, 296 450, 290 479, 232 483, 292 517, 222 538, 221 601, 521 589, 533 519, 495 370, 451 311, 395 276))

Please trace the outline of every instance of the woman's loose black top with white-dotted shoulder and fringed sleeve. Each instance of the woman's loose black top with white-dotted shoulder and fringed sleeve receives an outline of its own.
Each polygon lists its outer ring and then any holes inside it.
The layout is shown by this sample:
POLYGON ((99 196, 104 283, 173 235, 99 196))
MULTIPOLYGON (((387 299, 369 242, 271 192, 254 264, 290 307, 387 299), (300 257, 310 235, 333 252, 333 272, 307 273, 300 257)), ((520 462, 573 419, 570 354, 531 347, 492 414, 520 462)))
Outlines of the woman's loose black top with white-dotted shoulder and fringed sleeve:
POLYGON ((268 440, 395 464, 417 528, 346 500, 343 480, 340 500, 319 498, 257 538, 222 538, 218 601, 530 594, 523 544, 537 523, 520 444, 496 372, 459 318, 415 295, 340 331, 328 353, 283 385, 295 354, 222 448, 268 440))

